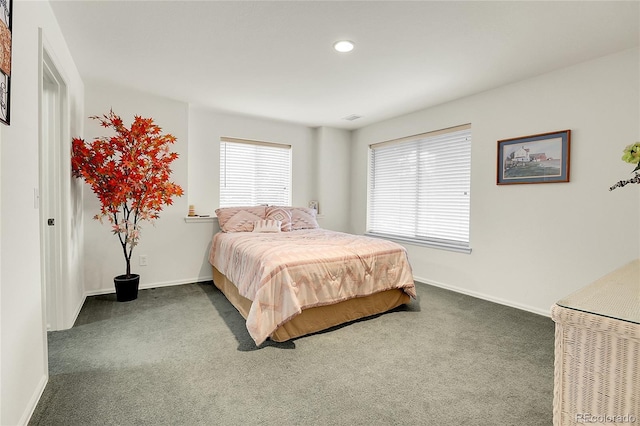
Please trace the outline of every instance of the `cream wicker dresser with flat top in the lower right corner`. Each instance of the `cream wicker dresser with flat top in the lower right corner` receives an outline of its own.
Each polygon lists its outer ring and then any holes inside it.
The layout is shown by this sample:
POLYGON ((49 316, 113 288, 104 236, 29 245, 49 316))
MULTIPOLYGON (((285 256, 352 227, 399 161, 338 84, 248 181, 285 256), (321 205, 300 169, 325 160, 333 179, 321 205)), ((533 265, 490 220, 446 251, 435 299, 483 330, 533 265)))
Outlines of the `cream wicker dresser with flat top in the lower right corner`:
POLYGON ((558 301, 553 424, 640 425, 640 259, 558 301))

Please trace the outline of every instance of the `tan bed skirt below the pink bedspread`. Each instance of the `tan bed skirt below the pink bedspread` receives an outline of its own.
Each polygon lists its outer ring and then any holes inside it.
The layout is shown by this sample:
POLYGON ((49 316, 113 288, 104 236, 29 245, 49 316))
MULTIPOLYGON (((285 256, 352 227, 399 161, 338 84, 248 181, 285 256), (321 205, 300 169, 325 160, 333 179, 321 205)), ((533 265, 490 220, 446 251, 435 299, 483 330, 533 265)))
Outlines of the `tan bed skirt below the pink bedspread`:
MULTIPOLYGON (((222 291, 243 318, 249 315, 251 300, 241 296, 238 288, 215 267, 213 283, 222 291)), ((271 340, 284 342, 306 334, 326 330, 368 316, 381 314, 409 303, 410 297, 401 289, 391 289, 366 297, 356 297, 336 304, 304 309, 299 315, 281 324, 270 336, 271 340)))

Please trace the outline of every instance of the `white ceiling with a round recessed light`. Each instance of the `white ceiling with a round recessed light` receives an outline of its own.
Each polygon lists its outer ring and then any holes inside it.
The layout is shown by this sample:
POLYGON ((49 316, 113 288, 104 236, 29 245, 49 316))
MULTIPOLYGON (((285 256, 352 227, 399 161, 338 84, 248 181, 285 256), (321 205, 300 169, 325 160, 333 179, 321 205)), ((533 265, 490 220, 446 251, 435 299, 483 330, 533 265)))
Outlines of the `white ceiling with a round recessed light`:
POLYGON ((362 127, 640 40, 638 1, 51 3, 86 81, 311 127, 362 127), (339 39, 355 50, 333 51, 339 39))

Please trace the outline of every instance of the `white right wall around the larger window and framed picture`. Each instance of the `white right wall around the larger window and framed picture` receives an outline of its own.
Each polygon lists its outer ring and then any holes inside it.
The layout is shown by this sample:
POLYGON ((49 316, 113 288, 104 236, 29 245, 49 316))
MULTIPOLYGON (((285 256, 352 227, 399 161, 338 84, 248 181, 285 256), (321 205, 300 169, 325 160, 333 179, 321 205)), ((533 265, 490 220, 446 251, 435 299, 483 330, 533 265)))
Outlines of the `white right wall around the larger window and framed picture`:
POLYGON ((354 132, 352 231, 366 230, 374 142, 472 124, 471 254, 406 244, 419 281, 548 314, 555 301, 640 257, 640 185, 609 192, 640 140, 638 50, 354 132), (571 182, 496 185, 496 144, 571 129, 571 182), (525 230, 523 233, 522 230, 525 230))

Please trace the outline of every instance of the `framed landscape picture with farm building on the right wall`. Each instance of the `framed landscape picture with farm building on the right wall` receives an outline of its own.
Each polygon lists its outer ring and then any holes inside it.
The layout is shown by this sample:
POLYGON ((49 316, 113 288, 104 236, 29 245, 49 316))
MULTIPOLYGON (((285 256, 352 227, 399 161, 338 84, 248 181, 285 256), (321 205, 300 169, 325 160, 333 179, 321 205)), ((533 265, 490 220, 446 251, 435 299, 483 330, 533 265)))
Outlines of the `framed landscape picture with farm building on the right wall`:
POLYGON ((498 185, 569 182, 571 130, 498 141, 498 185))

